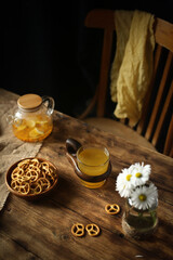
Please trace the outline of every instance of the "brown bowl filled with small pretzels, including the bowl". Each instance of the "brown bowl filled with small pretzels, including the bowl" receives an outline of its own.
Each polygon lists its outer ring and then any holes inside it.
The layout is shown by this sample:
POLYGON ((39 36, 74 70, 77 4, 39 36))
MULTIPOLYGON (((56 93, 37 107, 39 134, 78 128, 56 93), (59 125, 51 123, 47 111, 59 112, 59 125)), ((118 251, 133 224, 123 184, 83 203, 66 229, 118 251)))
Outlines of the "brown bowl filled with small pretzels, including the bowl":
POLYGON ((10 167, 5 182, 13 194, 32 199, 52 191, 57 179, 57 168, 52 162, 41 158, 26 158, 10 167))

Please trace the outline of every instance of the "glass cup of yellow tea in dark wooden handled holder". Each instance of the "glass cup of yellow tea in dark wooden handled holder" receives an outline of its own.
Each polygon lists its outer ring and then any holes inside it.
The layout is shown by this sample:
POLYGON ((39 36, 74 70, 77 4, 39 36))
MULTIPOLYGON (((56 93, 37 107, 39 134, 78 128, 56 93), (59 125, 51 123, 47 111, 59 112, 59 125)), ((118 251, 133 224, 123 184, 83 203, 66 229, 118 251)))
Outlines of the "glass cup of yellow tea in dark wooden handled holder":
POLYGON ((74 139, 66 140, 67 157, 83 186, 103 186, 110 174, 109 152, 102 146, 82 146, 74 139))

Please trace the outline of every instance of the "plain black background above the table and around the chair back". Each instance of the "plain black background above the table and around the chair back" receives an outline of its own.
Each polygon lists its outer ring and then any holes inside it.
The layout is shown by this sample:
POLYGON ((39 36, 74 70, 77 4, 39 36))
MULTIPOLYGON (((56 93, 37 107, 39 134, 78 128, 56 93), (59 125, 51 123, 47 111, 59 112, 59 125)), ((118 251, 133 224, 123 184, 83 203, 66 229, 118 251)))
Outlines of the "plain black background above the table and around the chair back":
POLYGON ((1 88, 51 95, 56 109, 80 114, 97 81, 101 50, 101 34, 89 32, 84 17, 98 8, 138 9, 173 23, 171 0, 5 1, 1 88))

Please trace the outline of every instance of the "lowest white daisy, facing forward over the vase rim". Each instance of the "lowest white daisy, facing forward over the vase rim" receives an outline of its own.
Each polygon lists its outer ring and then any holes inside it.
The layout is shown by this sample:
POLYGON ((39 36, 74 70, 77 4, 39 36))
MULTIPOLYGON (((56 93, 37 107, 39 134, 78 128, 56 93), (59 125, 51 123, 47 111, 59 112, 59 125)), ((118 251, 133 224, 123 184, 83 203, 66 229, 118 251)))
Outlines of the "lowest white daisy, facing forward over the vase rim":
POLYGON ((157 187, 149 183, 148 185, 137 186, 131 193, 131 203, 132 205, 142 210, 146 210, 156 205, 158 199, 157 187))

